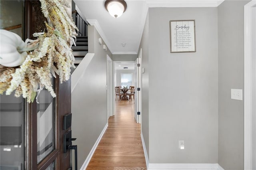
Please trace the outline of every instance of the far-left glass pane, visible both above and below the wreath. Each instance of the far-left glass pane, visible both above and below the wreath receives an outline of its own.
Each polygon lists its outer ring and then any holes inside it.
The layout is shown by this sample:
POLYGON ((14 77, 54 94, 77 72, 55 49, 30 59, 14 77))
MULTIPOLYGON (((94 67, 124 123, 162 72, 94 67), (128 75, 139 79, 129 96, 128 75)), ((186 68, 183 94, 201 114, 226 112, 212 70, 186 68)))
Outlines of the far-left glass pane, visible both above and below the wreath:
MULTIPOLYGON (((0 29, 22 38, 23 0, 0 0, 0 29)), ((5 68, 1 65, 0 74, 5 68)), ((24 170, 25 101, 22 97, 0 95, 0 170, 24 170)))

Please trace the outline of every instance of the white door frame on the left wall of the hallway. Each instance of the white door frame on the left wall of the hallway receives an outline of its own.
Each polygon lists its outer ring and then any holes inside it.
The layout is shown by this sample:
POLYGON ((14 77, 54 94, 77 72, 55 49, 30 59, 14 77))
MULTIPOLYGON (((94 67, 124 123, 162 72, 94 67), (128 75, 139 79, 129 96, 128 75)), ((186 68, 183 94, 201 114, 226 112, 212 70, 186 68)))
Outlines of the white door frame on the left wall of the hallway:
MULTIPOLYGON (((107 90, 109 89, 109 93, 107 91, 107 117, 108 117, 108 107, 110 108, 109 116, 113 116, 113 60, 107 54, 107 90), (110 71, 110 72, 109 72, 110 71), (110 75, 108 80, 108 75, 110 75), (108 96, 110 95, 110 96, 108 96), (110 99, 108 101, 108 99, 110 99)), ((109 118, 109 117, 108 117, 109 118)), ((107 120, 108 121, 108 120, 107 120)))

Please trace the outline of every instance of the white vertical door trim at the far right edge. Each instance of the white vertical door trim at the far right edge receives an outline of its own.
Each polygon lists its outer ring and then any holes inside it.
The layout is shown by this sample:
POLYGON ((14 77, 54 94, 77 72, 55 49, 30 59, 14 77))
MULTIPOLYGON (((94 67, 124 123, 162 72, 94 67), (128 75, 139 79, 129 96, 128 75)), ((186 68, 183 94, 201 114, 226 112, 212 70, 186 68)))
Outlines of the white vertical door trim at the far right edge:
POLYGON ((252 169, 252 7, 244 6, 244 169, 252 169))

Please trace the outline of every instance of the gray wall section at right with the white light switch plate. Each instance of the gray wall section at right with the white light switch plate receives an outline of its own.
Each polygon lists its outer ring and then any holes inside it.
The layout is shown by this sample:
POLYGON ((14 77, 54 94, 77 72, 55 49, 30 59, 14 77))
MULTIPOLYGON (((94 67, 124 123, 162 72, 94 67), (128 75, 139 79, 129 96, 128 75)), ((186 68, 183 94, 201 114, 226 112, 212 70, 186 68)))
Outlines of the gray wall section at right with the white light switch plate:
POLYGON ((244 101, 230 99, 230 89, 244 91, 244 5, 248 2, 225 0, 218 6, 218 162, 225 170, 244 169, 244 101))

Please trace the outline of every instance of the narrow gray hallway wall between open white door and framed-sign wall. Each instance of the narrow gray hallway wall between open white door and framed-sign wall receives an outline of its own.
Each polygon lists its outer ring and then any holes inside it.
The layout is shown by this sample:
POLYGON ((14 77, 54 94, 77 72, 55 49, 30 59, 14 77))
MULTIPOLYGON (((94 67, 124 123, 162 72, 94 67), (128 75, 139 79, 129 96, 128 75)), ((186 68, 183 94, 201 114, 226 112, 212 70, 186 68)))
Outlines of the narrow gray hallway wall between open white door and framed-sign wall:
POLYGON ((141 67, 144 68, 144 73, 142 74, 142 109, 141 109, 141 132, 143 134, 144 142, 146 145, 146 150, 149 156, 149 96, 148 96, 148 39, 149 39, 149 20, 148 20, 148 14, 146 17, 146 22, 140 42, 140 48, 138 53, 140 52, 140 49, 142 49, 142 65, 141 67))

